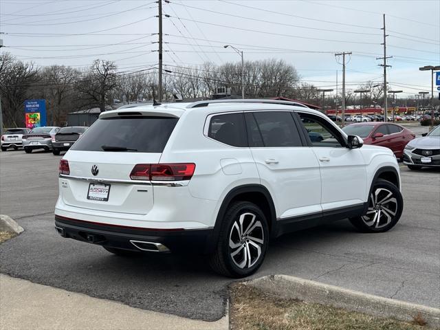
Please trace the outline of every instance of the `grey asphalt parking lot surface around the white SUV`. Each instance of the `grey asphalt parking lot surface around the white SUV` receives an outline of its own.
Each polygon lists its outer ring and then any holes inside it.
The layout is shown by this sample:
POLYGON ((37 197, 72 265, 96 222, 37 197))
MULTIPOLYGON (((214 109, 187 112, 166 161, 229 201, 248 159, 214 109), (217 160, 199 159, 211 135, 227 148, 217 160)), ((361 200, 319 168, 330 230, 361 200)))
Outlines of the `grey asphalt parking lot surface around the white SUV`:
MULTIPOLYGON (((0 153, 0 213, 25 232, 0 245, 0 272, 34 283, 176 314, 217 320, 231 282, 199 257, 124 259, 54 230, 58 161, 52 153, 0 153)), ((384 234, 348 221, 273 241, 254 276, 288 274, 369 294, 440 307, 440 171, 401 165, 404 213, 384 234)))

